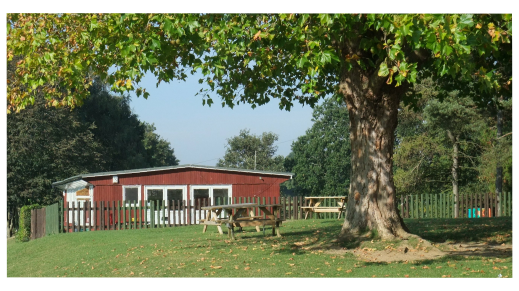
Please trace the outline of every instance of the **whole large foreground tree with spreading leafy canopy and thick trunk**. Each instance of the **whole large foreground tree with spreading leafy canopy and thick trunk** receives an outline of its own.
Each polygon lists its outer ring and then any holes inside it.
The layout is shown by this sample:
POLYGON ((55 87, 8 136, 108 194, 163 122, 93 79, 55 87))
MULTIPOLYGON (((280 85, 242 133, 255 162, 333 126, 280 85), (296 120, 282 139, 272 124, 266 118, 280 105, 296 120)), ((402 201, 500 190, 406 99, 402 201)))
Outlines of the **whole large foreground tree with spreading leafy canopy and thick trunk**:
POLYGON ((138 87, 145 72, 160 83, 200 70, 209 105, 212 92, 230 107, 344 99, 352 148, 344 237, 370 229, 409 236, 396 211, 392 156, 398 107, 419 68, 475 80, 486 93, 480 101, 512 87, 495 68, 511 60, 511 14, 8 14, 7 24, 7 58, 24 56, 8 111, 37 88, 50 104, 81 104, 91 73, 147 97, 138 87))

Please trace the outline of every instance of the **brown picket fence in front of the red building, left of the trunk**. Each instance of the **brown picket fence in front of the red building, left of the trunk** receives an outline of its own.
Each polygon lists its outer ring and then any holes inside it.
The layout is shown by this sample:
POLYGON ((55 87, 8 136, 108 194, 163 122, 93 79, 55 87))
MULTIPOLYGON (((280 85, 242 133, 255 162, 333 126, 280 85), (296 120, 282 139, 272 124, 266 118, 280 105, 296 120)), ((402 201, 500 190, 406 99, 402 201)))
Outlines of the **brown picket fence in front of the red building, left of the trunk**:
MULTIPOLYGON (((201 207, 236 203, 281 204, 278 218, 284 220, 303 219, 302 206, 306 206, 301 196, 297 197, 232 197, 178 201, 95 201, 59 203, 60 233, 125 230, 143 228, 178 227, 198 224, 206 218, 201 207), (213 202, 213 203, 212 203, 213 202)), ((326 205, 335 206, 335 205, 326 205)), ((327 213, 328 214, 328 213, 327 213)), ((223 215, 223 214, 221 214, 223 215)), ((259 208, 254 215, 263 216, 259 208)), ((337 217, 329 213, 324 218, 337 217)))

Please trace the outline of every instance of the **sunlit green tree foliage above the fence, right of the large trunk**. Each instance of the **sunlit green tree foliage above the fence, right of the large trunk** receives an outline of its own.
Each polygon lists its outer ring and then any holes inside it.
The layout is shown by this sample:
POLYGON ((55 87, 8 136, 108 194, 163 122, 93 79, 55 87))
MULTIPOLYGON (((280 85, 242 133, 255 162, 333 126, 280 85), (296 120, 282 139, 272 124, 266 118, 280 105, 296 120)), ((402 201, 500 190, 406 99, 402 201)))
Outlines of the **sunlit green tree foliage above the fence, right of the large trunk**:
MULTIPOLYGON (((395 149, 395 184, 400 194, 452 191, 452 147, 459 144, 459 181, 464 193, 494 191, 497 164, 506 165, 506 191, 511 191, 511 139, 496 143, 495 111, 478 109, 457 92, 439 101, 431 79, 415 85, 419 110, 402 106, 395 149)), ((509 106, 508 103, 507 106, 509 106)), ((511 130, 510 111, 505 112, 511 130)))

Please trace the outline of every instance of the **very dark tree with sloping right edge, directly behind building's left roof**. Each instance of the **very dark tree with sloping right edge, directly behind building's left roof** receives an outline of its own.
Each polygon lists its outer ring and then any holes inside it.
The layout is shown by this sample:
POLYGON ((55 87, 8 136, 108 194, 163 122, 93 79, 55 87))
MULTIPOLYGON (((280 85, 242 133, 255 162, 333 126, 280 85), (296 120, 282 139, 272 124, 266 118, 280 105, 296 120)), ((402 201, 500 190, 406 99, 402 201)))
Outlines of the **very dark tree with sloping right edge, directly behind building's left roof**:
POLYGON ((171 144, 132 112, 129 96, 111 94, 99 80, 90 87, 90 94, 77 110, 83 122, 96 125, 93 133, 103 145, 104 170, 178 165, 171 144))

